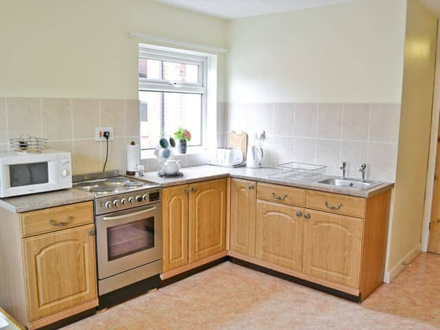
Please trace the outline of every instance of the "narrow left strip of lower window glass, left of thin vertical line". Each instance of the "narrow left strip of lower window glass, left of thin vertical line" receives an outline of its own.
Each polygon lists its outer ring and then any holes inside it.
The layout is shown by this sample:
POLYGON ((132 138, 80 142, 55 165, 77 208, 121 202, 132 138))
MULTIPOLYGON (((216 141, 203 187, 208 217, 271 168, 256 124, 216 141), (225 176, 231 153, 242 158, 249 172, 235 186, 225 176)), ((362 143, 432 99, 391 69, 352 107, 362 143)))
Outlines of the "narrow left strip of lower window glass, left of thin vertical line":
POLYGON ((140 147, 155 148, 160 138, 162 93, 140 91, 140 147))

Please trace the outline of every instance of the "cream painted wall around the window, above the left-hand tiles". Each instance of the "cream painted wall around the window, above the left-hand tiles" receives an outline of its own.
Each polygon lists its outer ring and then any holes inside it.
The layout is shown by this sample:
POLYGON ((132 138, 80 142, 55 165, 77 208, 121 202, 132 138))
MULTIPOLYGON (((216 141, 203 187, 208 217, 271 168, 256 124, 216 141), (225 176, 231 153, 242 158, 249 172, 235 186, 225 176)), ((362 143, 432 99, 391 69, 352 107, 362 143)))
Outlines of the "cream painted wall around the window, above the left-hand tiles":
POLYGON ((151 0, 2 0, 0 96, 137 99, 140 41, 131 30, 224 47, 225 28, 221 19, 151 0))

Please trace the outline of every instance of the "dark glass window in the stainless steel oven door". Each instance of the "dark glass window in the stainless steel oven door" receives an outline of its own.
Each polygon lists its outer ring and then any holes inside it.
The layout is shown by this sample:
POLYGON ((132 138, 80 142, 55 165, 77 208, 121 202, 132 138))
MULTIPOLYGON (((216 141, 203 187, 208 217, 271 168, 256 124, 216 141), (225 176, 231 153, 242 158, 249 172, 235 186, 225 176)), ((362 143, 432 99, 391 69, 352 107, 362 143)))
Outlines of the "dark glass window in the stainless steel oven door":
POLYGON ((154 217, 107 228, 109 261, 154 248, 154 217))

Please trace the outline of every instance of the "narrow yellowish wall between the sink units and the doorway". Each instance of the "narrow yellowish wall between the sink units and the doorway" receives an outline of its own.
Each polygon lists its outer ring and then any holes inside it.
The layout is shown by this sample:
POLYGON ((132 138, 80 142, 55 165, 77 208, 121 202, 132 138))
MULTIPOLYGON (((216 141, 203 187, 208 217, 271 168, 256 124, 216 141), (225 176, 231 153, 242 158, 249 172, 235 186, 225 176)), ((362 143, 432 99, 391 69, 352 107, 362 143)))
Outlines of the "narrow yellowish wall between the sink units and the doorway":
POLYGON ((404 83, 401 101, 395 202, 388 269, 419 250, 425 200, 432 98, 437 47, 437 19, 408 0, 404 83))

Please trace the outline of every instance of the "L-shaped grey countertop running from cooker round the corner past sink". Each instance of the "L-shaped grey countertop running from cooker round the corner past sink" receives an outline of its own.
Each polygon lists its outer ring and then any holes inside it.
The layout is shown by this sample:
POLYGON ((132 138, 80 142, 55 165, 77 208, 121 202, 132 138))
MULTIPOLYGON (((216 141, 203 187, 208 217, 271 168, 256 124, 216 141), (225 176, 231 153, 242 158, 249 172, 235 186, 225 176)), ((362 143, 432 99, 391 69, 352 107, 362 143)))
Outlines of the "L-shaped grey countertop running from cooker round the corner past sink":
POLYGON ((266 182, 270 184, 281 184, 283 186, 291 186, 296 188, 304 188, 311 190, 320 190, 325 192, 333 192, 336 194, 349 195, 355 197, 371 197, 377 195, 387 189, 393 188, 393 183, 382 182, 380 185, 366 190, 355 190, 350 188, 341 188, 330 186, 328 184, 318 184, 314 181, 292 181, 289 179, 278 179, 270 177, 279 173, 278 168, 263 167, 263 168, 225 168, 220 166, 199 165, 181 168, 184 173, 183 177, 159 177, 157 171, 145 172, 144 177, 137 177, 137 179, 144 179, 154 181, 162 185, 163 188, 178 186, 180 184, 191 184, 197 181, 206 181, 210 179, 220 179, 222 177, 234 177, 236 179, 246 179, 252 181, 266 182))

